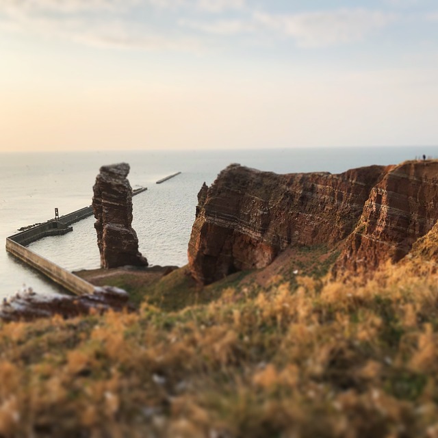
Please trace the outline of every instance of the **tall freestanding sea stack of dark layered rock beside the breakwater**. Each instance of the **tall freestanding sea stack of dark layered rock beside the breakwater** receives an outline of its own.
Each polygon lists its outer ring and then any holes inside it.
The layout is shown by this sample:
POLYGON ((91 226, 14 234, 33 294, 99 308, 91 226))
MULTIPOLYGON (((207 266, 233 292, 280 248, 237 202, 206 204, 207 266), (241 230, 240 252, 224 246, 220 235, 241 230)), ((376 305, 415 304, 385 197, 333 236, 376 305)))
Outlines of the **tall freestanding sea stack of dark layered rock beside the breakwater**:
POLYGON ((127 175, 129 164, 102 166, 93 187, 92 206, 102 268, 147 266, 138 251, 132 223, 132 189, 127 175))

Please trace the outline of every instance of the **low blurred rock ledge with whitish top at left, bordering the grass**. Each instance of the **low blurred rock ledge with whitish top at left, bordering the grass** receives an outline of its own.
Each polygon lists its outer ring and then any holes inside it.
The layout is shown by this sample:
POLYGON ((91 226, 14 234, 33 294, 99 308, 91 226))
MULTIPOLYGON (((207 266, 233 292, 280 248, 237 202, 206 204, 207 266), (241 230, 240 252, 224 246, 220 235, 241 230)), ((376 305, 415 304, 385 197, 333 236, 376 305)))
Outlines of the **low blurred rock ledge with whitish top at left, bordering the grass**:
POLYGON ((94 294, 68 296, 62 294, 40 295, 32 289, 24 289, 10 298, 4 298, 0 305, 0 320, 36 320, 61 315, 74 318, 87 315, 90 311, 103 313, 109 309, 133 311, 129 305, 129 296, 123 289, 116 287, 96 287, 94 294))

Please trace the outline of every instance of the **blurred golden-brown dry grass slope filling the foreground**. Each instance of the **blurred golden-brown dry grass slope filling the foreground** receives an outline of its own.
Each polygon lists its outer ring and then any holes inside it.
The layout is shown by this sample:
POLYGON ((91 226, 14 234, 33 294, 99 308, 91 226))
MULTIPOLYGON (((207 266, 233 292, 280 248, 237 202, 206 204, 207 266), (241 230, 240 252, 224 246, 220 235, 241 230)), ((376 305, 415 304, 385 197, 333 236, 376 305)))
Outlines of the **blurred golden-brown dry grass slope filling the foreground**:
POLYGON ((203 295, 178 270, 138 313, 2 324, 0 434, 438 433, 437 274, 411 262, 365 285, 257 274, 203 295))

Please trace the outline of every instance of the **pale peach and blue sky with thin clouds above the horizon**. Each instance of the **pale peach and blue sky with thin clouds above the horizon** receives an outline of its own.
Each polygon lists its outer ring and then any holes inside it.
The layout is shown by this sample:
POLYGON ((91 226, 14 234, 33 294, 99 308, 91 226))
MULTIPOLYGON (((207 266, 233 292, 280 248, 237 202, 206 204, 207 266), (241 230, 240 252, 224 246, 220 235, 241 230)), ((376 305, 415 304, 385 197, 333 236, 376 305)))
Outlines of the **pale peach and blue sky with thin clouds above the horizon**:
POLYGON ((438 144, 436 0, 0 0, 0 151, 438 144))

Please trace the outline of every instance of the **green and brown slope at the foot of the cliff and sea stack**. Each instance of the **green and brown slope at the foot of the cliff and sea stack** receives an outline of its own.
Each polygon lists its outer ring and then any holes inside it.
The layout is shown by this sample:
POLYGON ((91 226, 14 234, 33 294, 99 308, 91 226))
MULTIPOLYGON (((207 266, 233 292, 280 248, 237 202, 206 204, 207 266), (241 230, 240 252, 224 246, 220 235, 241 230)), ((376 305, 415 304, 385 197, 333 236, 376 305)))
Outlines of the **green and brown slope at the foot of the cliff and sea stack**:
POLYGON ((202 305, 218 299, 230 287, 248 288, 253 292, 271 289, 288 281, 297 286, 296 274, 320 278, 329 272, 339 253, 325 246, 291 248, 263 270, 237 272, 207 287, 200 287, 190 276, 188 267, 163 276, 164 270, 90 270, 75 272, 97 286, 121 287, 129 292, 134 305, 146 299, 164 311, 178 311, 188 306, 202 305))

